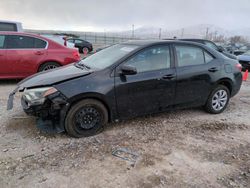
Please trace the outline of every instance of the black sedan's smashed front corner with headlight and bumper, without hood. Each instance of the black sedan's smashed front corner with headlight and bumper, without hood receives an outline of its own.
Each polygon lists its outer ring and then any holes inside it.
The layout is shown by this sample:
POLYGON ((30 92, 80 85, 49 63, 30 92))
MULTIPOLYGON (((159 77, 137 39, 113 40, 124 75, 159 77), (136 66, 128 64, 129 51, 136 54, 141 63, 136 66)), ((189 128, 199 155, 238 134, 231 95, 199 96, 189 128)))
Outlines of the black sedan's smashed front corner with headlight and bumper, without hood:
POLYGON ((16 92, 23 92, 21 104, 26 114, 36 116, 37 127, 43 132, 64 132, 64 118, 68 108, 67 98, 54 87, 32 89, 16 88, 9 96, 7 109, 13 108, 16 92))

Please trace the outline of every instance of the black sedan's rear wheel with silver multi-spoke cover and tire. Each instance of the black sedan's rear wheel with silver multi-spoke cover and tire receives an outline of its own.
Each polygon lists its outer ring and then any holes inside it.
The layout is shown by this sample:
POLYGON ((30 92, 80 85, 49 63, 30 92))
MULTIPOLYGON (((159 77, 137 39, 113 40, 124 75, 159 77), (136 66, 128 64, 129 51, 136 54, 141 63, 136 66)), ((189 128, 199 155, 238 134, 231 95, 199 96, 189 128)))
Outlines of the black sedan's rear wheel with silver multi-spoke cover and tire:
POLYGON ((211 114, 219 114, 223 112, 229 102, 230 92, 226 86, 217 86, 209 95, 205 110, 211 114))

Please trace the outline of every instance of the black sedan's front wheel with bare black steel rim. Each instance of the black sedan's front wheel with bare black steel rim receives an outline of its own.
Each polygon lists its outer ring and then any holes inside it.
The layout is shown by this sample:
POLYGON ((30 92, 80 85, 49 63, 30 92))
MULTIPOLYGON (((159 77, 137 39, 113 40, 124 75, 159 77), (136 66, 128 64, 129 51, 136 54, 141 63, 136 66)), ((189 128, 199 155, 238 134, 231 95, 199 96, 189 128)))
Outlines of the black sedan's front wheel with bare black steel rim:
POLYGON ((65 130, 72 137, 88 137, 100 133, 107 122, 106 107, 97 100, 85 99, 77 102, 68 111, 65 130))

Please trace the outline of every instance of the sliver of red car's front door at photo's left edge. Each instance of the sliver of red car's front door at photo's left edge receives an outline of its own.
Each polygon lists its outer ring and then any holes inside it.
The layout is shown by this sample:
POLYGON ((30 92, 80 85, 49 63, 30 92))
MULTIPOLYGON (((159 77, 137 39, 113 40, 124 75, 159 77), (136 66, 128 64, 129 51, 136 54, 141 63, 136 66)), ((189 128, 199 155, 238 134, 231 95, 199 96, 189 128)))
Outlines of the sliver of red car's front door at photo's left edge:
POLYGON ((4 49, 5 35, 0 35, 0 77, 7 76, 10 71, 6 63, 6 50, 4 49))

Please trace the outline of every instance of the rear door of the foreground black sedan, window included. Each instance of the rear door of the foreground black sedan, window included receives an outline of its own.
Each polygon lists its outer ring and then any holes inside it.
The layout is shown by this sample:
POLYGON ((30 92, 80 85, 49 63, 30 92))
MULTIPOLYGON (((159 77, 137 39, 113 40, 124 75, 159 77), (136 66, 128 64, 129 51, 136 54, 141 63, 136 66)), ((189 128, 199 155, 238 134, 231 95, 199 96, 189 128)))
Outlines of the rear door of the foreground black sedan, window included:
POLYGON ((212 83, 220 76, 220 63, 205 49, 187 44, 176 44, 177 86, 176 103, 204 104, 212 83))

